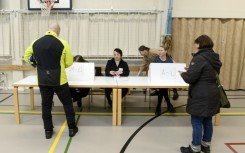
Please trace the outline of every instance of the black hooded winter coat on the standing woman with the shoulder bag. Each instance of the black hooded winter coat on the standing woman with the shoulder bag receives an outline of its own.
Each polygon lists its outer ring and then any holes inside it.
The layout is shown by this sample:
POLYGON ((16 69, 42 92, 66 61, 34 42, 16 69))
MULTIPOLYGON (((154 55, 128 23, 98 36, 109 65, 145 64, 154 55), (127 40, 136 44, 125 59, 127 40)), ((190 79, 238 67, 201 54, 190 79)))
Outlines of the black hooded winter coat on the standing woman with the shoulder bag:
POLYGON ((219 55, 212 49, 202 49, 194 54, 189 69, 181 74, 190 84, 186 107, 189 114, 210 117, 219 112, 216 72, 220 72, 221 65, 219 55))

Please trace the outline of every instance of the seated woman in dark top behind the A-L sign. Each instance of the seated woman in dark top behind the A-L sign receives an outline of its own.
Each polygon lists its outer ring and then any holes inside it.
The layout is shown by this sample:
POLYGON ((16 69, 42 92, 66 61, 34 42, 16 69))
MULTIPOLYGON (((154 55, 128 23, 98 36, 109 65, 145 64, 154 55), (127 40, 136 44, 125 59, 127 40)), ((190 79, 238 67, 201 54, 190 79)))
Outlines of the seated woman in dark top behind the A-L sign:
MULTIPOLYGON (((153 63, 174 63, 173 59, 167 54, 167 48, 164 48, 161 46, 158 49, 158 51, 159 51, 159 56, 153 60, 153 63)), ((169 96, 168 96, 168 89, 160 88, 158 92, 158 103, 157 103, 155 114, 156 115, 161 114, 161 105, 162 105, 163 96, 167 102, 168 111, 170 113, 175 113, 176 111, 173 105, 171 104, 169 96)))

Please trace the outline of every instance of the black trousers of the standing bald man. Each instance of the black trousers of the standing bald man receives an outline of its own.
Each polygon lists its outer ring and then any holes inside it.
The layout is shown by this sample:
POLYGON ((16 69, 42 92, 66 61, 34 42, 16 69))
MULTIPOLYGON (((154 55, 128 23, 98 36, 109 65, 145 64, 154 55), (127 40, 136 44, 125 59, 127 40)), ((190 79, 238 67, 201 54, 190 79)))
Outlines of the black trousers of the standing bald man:
POLYGON ((42 118, 45 130, 52 130, 54 128, 52 121, 52 103, 54 93, 57 94, 59 100, 63 104, 67 124, 69 129, 73 129, 75 124, 75 112, 71 100, 70 88, 68 83, 61 86, 42 86, 39 85, 42 97, 42 118))

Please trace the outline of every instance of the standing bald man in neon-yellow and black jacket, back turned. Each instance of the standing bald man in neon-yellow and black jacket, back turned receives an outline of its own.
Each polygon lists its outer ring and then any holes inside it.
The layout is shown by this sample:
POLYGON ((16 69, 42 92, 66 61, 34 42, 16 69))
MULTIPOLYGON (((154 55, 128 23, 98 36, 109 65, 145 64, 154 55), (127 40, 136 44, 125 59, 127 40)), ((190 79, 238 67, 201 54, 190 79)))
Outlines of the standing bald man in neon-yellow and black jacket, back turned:
POLYGON ((75 123, 75 112, 72 105, 68 80, 65 68, 73 63, 70 45, 59 38, 60 26, 56 23, 50 25, 46 35, 26 49, 24 59, 32 60, 37 64, 38 85, 42 97, 42 118, 46 139, 53 135, 52 102, 54 93, 63 104, 69 127, 69 136, 73 137, 78 132, 75 123))

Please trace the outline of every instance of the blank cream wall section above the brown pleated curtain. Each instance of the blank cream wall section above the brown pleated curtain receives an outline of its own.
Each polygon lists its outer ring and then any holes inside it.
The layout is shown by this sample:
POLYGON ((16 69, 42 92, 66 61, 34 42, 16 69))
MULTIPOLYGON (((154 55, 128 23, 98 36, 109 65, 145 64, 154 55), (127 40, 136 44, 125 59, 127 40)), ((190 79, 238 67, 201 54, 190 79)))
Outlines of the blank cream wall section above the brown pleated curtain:
POLYGON ((173 0, 173 17, 245 18, 244 0, 173 0))

